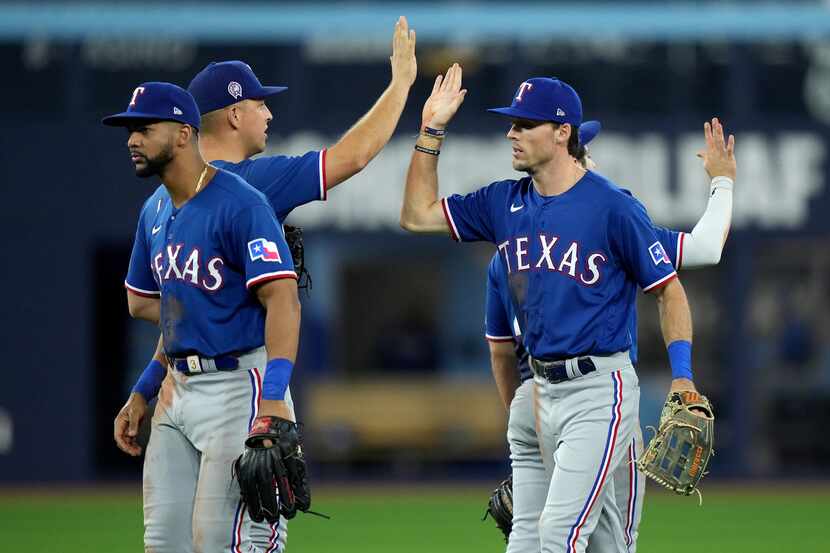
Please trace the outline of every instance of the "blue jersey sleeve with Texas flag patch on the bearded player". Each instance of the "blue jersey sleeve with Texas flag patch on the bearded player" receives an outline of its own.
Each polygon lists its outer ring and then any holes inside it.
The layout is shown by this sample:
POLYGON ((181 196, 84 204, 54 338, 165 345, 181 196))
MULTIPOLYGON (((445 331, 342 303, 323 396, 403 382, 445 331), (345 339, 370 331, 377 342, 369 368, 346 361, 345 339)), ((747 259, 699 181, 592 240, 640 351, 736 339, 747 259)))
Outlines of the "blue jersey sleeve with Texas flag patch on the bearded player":
POLYGON ((245 270, 245 286, 254 286, 280 278, 297 278, 291 251, 282 227, 271 209, 257 204, 243 209, 235 218, 232 249, 245 270))

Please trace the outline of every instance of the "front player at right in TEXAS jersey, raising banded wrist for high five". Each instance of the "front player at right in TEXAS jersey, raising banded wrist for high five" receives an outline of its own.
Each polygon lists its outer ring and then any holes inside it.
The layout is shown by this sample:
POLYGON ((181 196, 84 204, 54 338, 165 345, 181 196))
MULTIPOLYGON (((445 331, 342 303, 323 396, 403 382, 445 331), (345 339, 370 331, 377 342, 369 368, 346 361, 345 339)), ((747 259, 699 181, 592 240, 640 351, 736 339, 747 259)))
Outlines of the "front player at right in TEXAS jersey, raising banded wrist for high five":
POLYGON ((464 100, 462 71, 439 76, 409 165, 401 226, 495 244, 511 297, 524 306, 542 458, 552 467, 539 520, 545 553, 625 551, 610 477, 639 419, 629 324, 636 289, 658 302, 672 390, 695 390, 688 302, 643 206, 576 159, 582 104, 553 78, 529 79, 509 107, 513 168, 528 173, 438 198, 437 160, 464 100))

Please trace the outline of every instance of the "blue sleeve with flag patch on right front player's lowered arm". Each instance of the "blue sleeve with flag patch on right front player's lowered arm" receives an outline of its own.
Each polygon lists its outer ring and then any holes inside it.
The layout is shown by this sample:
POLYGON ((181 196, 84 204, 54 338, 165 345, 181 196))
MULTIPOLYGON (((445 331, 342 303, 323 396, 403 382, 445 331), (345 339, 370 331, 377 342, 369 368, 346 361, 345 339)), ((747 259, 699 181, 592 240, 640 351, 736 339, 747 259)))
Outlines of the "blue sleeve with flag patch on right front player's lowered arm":
POLYGON ((626 272, 643 292, 665 286, 677 277, 671 259, 654 232, 645 207, 633 198, 612 211, 611 245, 626 272))

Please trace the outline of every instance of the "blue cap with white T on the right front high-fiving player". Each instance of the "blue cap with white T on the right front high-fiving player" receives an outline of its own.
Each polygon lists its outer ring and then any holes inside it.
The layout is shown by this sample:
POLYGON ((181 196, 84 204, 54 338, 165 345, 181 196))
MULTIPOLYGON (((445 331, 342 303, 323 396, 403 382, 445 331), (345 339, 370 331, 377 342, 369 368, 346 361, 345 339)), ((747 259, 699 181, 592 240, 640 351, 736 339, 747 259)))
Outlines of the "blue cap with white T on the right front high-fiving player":
POLYGON ((526 80, 516 90, 510 107, 487 111, 516 119, 570 123, 577 127, 582 123, 579 94, 568 83, 553 77, 526 80))

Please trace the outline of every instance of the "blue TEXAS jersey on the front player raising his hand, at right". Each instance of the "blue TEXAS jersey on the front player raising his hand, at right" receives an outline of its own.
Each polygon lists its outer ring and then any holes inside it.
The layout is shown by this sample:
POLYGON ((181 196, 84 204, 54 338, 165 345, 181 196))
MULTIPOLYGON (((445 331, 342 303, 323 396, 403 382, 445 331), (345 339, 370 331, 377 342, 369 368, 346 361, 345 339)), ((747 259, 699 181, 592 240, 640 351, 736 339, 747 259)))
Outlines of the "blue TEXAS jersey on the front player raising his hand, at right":
POLYGON ((637 287, 676 277, 643 205, 593 171, 556 196, 525 177, 442 202, 456 240, 497 246, 534 357, 629 350, 637 287))

